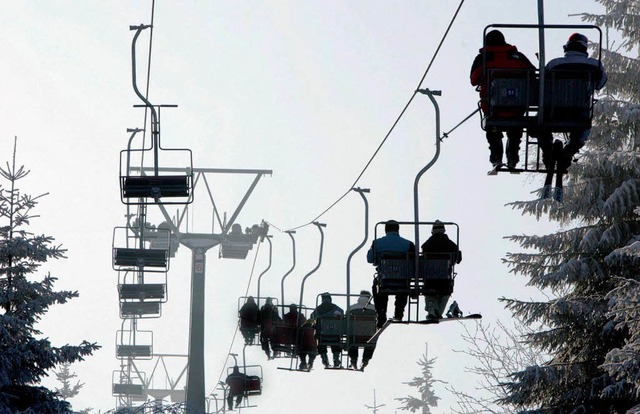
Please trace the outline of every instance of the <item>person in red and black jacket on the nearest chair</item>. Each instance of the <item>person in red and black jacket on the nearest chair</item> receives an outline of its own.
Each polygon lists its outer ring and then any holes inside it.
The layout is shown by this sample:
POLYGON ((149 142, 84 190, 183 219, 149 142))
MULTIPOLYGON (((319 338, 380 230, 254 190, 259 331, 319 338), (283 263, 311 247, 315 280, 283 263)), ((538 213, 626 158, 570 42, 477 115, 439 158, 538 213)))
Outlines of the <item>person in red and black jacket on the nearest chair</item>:
MULTIPOLYGON (((486 69, 533 69, 535 67, 527 57, 518 52, 518 49, 508 44, 502 32, 492 30, 485 36, 485 46, 480 49, 478 56, 471 65, 471 85, 477 86, 480 92, 481 108, 487 113, 487 80, 484 78, 486 69)), ((494 114, 499 117, 518 117, 522 113, 502 112, 494 114)), ((522 140, 522 128, 507 128, 507 167, 510 169, 520 161, 520 141, 522 140)), ((502 164, 502 131, 487 129, 487 141, 489 142, 489 161, 494 166, 502 164)))

